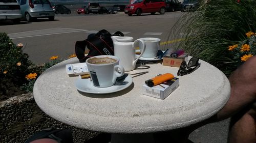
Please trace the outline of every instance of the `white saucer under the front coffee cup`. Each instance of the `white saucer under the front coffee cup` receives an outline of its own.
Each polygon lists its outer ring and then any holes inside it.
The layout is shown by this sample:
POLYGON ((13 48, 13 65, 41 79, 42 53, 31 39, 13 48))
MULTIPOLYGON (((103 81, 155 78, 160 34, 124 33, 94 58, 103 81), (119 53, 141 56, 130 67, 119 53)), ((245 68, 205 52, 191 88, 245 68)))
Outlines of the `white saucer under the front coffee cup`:
POLYGON ((133 83, 131 76, 127 75, 124 79, 117 80, 114 85, 107 88, 97 88, 90 81, 90 78, 81 79, 78 78, 75 81, 76 89, 84 93, 94 93, 94 94, 107 94, 114 93, 128 88, 133 83))

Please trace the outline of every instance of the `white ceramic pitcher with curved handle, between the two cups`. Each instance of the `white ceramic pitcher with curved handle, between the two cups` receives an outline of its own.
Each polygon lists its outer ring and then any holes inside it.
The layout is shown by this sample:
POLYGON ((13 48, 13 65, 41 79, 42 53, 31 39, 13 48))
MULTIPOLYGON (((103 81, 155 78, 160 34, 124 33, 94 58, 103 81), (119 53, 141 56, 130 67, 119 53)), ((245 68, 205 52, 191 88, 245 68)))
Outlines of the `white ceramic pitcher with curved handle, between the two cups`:
POLYGON ((133 37, 112 36, 111 38, 114 44, 115 56, 120 59, 119 65, 123 66, 124 71, 134 70, 137 61, 140 59, 141 55, 145 51, 144 41, 141 39, 137 39, 132 42, 133 37), (141 44, 137 44, 138 42, 141 44), (135 58, 135 45, 140 45, 140 49, 142 49, 137 59, 135 58))

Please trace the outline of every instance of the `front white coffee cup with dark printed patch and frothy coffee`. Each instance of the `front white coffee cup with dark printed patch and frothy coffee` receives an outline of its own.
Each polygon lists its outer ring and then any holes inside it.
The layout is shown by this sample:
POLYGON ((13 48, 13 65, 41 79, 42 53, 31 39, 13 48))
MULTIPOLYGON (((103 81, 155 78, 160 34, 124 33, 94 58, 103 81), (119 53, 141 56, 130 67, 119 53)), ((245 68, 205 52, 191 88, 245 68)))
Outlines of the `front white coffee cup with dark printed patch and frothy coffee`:
POLYGON ((116 78, 124 74, 119 58, 114 55, 98 55, 86 60, 95 87, 105 88, 115 84, 116 78))

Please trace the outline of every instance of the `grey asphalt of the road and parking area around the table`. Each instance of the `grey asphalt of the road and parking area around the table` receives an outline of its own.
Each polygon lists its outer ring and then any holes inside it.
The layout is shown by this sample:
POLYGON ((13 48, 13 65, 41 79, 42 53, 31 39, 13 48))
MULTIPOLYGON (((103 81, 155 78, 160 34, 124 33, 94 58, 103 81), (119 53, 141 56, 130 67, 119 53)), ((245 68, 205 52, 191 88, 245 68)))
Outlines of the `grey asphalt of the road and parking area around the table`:
MULTIPOLYGON (((53 55, 66 59, 75 53, 75 42, 84 40, 91 33, 105 29, 111 33, 121 31, 125 36, 160 38, 162 42, 172 41, 169 37, 172 26, 184 14, 181 12, 168 12, 164 15, 155 14, 142 16, 127 16, 117 14, 90 14, 78 15, 73 8, 70 15, 58 14, 54 21, 47 18, 37 19, 33 22, 22 21, 21 24, 12 24, 6 21, 0 23, 0 32, 6 32, 14 43, 23 43, 24 52, 28 53, 30 60, 35 64, 50 61, 53 55)), ((161 48, 172 48, 170 44, 161 45, 161 48)), ((224 143, 227 140, 228 122, 208 124, 190 135, 194 142, 224 143)))

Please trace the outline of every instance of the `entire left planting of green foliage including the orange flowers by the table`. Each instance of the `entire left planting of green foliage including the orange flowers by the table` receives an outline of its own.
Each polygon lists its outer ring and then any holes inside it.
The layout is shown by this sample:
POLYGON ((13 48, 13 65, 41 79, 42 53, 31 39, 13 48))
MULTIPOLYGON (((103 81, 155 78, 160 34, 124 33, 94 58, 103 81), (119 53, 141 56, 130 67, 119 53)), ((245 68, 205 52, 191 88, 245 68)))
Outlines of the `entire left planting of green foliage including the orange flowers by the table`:
MULTIPOLYGON (((0 100, 32 92, 36 78, 51 66, 65 60, 52 56, 51 61, 34 65, 23 52, 24 45, 15 45, 6 33, 0 33, 0 100)), ((75 57, 75 54, 69 58, 75 57)))

